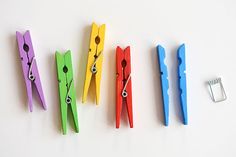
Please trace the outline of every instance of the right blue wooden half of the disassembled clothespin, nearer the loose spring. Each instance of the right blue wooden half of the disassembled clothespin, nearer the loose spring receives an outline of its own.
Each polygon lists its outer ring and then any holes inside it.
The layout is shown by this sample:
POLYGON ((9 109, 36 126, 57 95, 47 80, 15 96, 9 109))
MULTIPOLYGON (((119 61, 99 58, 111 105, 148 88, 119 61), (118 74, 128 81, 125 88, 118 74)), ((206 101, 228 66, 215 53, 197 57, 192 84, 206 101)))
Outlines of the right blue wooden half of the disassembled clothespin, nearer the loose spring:
POLYGON ((182 44, 177 51, 178 55, 178 75, 179 75, 179 90, 180 90, 180 104, 183 117, 183 124, 188 124, 187 115, 187 85, 186 85, 186 64, 185 64, 185 45, 182 44))

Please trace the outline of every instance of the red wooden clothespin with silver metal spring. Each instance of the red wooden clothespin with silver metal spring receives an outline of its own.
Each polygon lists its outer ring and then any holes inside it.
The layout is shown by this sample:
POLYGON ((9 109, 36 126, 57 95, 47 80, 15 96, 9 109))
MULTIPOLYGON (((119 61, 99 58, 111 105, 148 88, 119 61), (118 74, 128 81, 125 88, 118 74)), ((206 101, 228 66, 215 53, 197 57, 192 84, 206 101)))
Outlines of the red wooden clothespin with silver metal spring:
POLYGON ((122 106, 126 105, 130 128, 133 128, 130 47, 116 48, 116 128, 120 127, 122 106))

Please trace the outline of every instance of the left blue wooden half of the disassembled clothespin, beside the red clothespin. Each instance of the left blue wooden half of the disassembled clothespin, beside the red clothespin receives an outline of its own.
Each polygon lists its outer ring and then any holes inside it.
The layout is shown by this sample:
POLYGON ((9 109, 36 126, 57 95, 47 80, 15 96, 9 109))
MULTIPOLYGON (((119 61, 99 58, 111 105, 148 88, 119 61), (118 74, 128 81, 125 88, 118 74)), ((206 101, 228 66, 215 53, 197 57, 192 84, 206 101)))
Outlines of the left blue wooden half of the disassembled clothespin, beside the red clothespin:
POLYGON ((165 49, 161 46, 157 46, 157 56, 159 61, 160 79, 161 79, 161 91, 162 91, 162 101, 164 110, 164 124, 169 125, 169 83, 168 83, 168 72, 165 64, 165 49))

